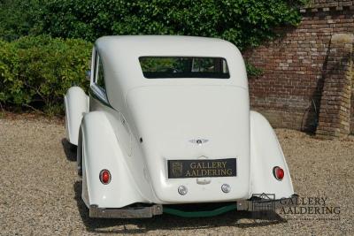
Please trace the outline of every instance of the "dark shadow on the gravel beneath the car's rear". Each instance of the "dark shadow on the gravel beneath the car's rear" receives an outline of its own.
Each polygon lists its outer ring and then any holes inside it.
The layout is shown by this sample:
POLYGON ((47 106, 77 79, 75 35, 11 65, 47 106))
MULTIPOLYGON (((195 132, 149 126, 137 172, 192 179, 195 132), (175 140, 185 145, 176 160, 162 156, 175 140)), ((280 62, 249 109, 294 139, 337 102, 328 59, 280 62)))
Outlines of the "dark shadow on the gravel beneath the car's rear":
POLYGON ((191 230, 191 229, 210 229, 219 226, 235 226, 238 228, 250 228, 266 225, 278 225, 287 222, 278 214, 273 220, 265 220, 262 217, 255 218, 251 212, 238 211, 228 212, 217 217, 205 218, 183 218, 174 217, 168 214, 146 219, 103 219, 90 218, 89 209, 81 199, 81 181, 76 181, 73 185, 75 191, 75 200, 86 230, 96 233, 145 233, 156 230, 191 230), (134 229, 127 229, 127 226, 134 229), (112 229, 119 226, 119 229, 112 229), (123 227, 121 227, 123 226, 123 227))

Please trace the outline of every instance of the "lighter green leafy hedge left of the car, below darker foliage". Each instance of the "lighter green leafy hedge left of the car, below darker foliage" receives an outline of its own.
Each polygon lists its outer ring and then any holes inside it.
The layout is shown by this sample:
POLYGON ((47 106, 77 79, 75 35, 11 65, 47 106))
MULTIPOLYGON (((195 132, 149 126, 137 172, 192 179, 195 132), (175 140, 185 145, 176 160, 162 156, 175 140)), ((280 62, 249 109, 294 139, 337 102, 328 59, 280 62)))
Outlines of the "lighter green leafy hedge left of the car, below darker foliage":
POLYGON ((0 104, 63 113, 63 95, 73 85, 88 87, 92 44, 50 36, 0 41, 0 104))

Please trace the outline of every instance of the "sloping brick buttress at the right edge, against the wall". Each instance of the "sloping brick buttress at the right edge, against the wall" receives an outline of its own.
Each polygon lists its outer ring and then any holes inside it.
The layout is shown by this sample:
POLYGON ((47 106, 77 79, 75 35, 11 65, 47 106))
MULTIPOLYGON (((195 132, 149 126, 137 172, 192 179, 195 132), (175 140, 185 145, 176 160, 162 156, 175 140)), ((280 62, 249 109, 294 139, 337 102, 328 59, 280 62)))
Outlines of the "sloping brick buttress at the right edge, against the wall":
POLYGON ((333 139, 350 133, 350 95, 354 34, 331 38, 319 106, 317 136, 333 139))

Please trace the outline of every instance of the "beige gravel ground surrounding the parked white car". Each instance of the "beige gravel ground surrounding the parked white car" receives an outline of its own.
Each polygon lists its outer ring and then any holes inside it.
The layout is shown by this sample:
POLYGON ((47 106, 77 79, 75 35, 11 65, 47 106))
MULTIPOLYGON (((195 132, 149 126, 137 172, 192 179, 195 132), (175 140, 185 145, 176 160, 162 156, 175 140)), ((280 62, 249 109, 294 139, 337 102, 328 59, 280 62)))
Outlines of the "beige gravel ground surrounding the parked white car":
POLYGON ((285 214, 289 209, 284 209, 273 220, 248 212, 192 219, 90 219, 63 124, 43 118, 0 118, 0 234, 353 235, 354 138, 319 141, 291 130, 276 133, 296 192, 306 201, 297 209, 322 209, 322 202, 307 201, 326 197, 326 207, 336 207, 339 214, 285 214))

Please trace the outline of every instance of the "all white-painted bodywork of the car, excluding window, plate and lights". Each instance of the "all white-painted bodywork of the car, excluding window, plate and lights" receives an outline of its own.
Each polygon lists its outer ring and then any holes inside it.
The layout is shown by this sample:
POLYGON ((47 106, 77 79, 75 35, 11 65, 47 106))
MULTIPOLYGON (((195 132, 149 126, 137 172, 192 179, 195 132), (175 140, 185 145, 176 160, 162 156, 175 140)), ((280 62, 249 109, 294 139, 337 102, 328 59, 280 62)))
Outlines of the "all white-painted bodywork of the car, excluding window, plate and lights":
POLYGON ((245 66, 234 45, 200 37, 110 36, 98 39, 96 49, 103 60, 112 107, 92 96, 88 102, 77 88, 65 95, 69 140, 75 138, 72 130, 76 131, 71 124, 79 129, 77 114, 84 100, 89 107, 82 123, 82 197, 88 206, 226 202, 248 199, 251 194, 274 193, 277 198, 294 194, 272 127, 261 115, 250 112, 245 66), (224 57, 231 77, 145 79, 141 56, 224 57), (78 109, 70 109, 75 106, 78 109), (200 146, 190 142, 196 139, 208 141, 200 146), (201 156, 236 157, 237 176, 167 178, 168 159, 201 156), (273 178, 275 165, 285 171, 282 181, 273 178), (103 169, 112 172, 112 182, 106 186, 98 176, 103 169), (223 184, 231 187, 230 193, 221 191, 223 184), (188 194, 178 194, 181 185, 188 187, 188 194))

